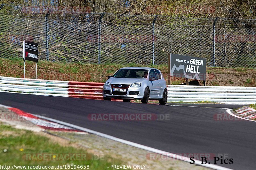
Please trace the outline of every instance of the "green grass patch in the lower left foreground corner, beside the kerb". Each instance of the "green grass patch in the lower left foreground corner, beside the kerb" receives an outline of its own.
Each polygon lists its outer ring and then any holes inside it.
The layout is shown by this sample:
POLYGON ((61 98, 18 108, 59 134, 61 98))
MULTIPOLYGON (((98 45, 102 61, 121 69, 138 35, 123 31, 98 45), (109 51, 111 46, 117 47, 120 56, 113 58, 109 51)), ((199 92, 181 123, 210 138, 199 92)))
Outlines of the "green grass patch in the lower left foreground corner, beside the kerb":
MULTIPOLYGON (((26 165, 26 166, 57 166, 57 165, 89 165, 90 169, 109 169, 112 164, 122 164, 120 160, 111 157, 100 158, 87 153, 82 148, 71 146, 62 146, 51 141, 50 138, 36 135, 32 131, 15 129, 11 126, 0 123, 0 165, 26 165), (4 152, 7 149, 7 152, 4 152), (44 154, 48 157, 44 160, 38 160, 42 157, 37 157, 38 154, 44 154), (56 160, 57 155, 76 154, 84 155, 81 159, 60 159, 56 160), (31 156, 32 155, 32 156, 31 156), (50 156, 49 156, 50 155, 50 156), (33 157, 34 156, 34 157, 33 157), (51 160, 52 159, 52 160, 51 160)), ((71 169, 71 168, 70 168, 71 169)))

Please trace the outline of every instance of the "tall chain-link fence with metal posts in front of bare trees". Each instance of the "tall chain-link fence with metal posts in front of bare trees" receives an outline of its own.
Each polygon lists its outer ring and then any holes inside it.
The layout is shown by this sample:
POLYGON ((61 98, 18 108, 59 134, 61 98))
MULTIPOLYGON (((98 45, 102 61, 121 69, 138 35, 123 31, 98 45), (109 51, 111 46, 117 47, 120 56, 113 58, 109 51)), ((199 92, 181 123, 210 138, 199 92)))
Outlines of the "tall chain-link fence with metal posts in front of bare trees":
POLYGON ((208 66, 256 68, 255 20, 1 7, 4 58, 22 57, 28 40, 38 42, 39 60, 53 62, 167 64, 173 53, 206 58, 208 66))

